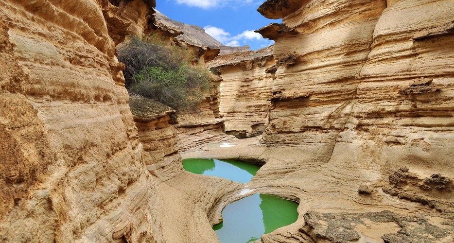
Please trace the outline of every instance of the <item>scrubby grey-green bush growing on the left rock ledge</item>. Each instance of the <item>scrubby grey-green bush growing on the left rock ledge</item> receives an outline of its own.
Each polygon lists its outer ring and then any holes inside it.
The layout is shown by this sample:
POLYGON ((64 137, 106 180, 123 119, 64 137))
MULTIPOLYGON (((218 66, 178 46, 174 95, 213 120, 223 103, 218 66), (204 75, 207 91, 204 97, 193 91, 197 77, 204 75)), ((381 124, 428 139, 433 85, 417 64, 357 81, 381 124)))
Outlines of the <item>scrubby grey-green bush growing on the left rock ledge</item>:
POLYGON ((187 52, 166 47, 156 38, 133 38, 119 50, 118 59, 126 64, 123 71, 129 93, 166 104, 178 112, 195 110, 204 99, 210 73, 189 63, 187 52))

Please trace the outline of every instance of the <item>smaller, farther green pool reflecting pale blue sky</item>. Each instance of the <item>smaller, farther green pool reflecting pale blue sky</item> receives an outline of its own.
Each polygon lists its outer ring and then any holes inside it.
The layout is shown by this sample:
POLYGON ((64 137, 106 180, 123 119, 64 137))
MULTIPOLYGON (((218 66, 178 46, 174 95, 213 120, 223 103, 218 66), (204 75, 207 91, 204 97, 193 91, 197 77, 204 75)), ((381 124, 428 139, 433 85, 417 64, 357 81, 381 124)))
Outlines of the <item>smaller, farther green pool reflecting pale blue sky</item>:
POLYGON ((258 165, 212 158, 183 159, 183 167, 195 174, 218 176, 241 183, 249 182, 260 169, 258 165))

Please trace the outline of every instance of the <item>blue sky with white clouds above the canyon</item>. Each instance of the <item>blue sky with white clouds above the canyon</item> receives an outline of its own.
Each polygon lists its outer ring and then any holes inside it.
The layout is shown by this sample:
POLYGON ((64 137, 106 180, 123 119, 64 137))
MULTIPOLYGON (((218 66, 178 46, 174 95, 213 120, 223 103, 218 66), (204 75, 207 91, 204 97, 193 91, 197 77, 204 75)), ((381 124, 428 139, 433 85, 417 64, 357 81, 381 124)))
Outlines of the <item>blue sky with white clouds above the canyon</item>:
POLYGON ((156 0, 156 9, 173 20, 193 24, 228 46, 251 50, 274 43, 253 31, 280 21, 263 17, 257 8, 264 0, 156 0))

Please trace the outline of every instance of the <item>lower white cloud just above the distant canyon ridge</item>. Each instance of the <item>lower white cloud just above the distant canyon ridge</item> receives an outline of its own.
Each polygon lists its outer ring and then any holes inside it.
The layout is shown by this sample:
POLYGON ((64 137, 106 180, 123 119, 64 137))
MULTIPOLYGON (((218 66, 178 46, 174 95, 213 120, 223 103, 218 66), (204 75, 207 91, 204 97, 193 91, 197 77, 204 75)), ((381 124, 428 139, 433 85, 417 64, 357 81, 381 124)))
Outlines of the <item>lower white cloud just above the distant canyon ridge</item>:
POLYGON ((262 38, 259 33, 246 30, 241 34, 231 36, 230 33, 226 32, 222 28, 218 28, 212 25, 204 27, 205 33, 211 35, 213 38, 221 42, 226 46, 240 46, 240 43, 248 44, 248 41, 267 41, 262 38))

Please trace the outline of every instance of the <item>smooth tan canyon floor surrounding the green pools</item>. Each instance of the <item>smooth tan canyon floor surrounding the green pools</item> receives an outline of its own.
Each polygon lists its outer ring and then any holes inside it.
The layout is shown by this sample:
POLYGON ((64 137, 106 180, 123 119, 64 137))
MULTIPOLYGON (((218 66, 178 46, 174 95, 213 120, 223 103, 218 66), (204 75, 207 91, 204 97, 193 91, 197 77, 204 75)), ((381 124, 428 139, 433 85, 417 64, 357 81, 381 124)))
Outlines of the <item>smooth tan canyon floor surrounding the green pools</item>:
MULTIPOLYGON (((216 242, 211 226, 222 209, 253 193, 270 193, 299 203, 298 220, 262 236, 262 242, 452 242, 452 205, 412 202, 384 191, 393 175, 357 162, 318 163, 308 156, 332 147, 266 147, 261 137, 232 139, 235 146, 198 146, 183 158, 209 157, 265 162, 246 184, 182 172, 157 182, 162 233, 169 242, 216 242), (360 187, 362 188, 361 190, 360 187)), ((346 155, 347 156, 347 155, 346 155)), ((405 169, 396 173, 411 173, 405 169)), ((404 176, 401 176, 404 179, 404 176)), ((409 177, 407 177, 409 178, 409 177)), ((414 179, 414 178, 413 178, 414 179)), ((408 183, 409 180, 408 179, 408 183)), ((159 181, 156 178, 155 181, 159 181)), ((409 189, 405 191, 410 192, 409 189)), ((416 194, 415 194, 416 195, 416 194)))

